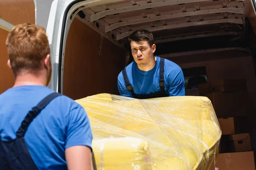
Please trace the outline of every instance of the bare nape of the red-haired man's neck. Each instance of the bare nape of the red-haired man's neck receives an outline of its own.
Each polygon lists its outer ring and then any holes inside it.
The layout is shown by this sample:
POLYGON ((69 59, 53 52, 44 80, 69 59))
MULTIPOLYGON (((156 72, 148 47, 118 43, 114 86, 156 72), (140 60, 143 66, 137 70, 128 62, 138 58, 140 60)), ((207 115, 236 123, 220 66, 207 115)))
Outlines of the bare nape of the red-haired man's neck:
POLYGON ((15 84, 13 87, 22 86, 22 85, 44 85, 46 80, 41 76, 35 76, 33 74, 20 74, 15 79, 15 84))

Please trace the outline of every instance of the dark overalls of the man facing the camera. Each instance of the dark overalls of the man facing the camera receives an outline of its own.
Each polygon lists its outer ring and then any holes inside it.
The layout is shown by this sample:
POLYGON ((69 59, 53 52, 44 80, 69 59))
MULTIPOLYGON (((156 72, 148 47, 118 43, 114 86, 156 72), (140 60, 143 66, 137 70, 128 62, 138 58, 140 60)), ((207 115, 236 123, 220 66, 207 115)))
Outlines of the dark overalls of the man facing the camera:
POLYGON ((164 58, 160 57, 160 71, 159 71, 159 86, 160 86, 160 91, 157 91, 155 93, 150 93, 150 94, 135 94, 133 88, 131 87, 131 83, 128 79, 127 73, 126 73, 126 68, 123 69, 122 75, 125 79, 125 85, 127 89, 134 95, 135 99, 151 99, 151 98, 157 98, 157 97, 167 97, 169 96, 165 89, 164 89, 164 58))

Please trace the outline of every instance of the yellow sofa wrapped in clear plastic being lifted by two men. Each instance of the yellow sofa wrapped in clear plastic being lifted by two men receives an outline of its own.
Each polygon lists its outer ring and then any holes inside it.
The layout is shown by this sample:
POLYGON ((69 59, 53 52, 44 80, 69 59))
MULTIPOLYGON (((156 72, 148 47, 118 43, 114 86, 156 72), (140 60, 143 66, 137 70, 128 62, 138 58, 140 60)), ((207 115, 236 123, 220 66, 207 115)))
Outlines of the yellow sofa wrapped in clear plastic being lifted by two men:
POLYGON ((207 97, 76 102, 90 119, 97 170, 208 170, 215 162, 221 129, 207 97))

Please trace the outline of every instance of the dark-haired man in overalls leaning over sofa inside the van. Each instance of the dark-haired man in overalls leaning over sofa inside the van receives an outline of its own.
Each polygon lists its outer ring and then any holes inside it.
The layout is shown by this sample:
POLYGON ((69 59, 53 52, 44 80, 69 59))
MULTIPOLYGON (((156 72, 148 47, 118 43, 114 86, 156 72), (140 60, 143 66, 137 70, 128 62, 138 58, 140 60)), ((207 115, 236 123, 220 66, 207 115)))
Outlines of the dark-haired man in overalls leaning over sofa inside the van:
POLYGON ((154 56, 156 45, 151 32, 134 31, 128 40, 134 62, 118 75, 121 96, 149 99, 185 95, 181 68, 172 61, 154 56))

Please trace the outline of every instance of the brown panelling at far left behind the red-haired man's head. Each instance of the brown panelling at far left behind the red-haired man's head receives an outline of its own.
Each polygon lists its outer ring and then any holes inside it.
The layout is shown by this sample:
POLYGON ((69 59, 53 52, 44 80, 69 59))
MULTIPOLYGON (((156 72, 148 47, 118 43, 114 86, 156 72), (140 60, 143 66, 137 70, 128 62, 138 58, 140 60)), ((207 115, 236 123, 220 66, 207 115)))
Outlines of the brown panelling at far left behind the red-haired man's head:
MULTIPOLYGON (((0 0, 0 17, 16 25, 20 23, 35 23, 35 4, 33 0, 0 0)), ((8 32, 0 29, 0 94, 11 88, 14 77, 7 66, 8 54, 6 37, 8 32)))

